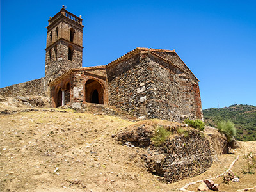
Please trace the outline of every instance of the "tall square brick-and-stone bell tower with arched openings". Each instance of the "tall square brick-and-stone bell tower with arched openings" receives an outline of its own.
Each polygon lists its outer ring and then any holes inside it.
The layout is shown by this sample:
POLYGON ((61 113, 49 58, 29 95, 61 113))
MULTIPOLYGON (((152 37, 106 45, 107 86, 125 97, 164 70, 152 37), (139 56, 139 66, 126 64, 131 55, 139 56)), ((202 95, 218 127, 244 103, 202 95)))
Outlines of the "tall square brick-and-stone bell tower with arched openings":
POLYGON ((45 85, 70 68, 82 67, 83 19, 62 6, 50 17, 45 54, 45 85))

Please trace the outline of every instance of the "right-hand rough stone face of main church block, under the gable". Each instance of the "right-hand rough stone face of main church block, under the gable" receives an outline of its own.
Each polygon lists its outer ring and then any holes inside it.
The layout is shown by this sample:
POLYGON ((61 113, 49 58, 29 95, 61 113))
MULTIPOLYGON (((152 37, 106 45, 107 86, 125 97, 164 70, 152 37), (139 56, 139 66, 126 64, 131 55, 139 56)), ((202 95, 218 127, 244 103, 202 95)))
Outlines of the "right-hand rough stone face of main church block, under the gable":
POLYGON ((198 95, 193 89, 196 79, 155 56, 150 56, 150 60, 150 68, 154 71, 154 100, 147 104, 150 118, 175 122, 182 121, 182 116, 200 119, 201 116, 196 113, 196 109, 200 108, 198 100, 195 100, 198 95))

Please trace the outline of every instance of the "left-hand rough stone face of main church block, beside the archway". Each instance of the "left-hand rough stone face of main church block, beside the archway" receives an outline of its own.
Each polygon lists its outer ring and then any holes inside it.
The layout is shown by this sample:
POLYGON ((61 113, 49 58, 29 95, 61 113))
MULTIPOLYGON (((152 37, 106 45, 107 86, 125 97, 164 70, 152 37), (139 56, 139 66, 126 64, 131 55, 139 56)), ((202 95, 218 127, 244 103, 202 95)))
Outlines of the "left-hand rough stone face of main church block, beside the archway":
POLYGON ((146 105, 152 99, 150 60, 140 54, 131 56, 118 65, 107 67, 109 105, 128 111, 136 117, 145 117, 146 105))

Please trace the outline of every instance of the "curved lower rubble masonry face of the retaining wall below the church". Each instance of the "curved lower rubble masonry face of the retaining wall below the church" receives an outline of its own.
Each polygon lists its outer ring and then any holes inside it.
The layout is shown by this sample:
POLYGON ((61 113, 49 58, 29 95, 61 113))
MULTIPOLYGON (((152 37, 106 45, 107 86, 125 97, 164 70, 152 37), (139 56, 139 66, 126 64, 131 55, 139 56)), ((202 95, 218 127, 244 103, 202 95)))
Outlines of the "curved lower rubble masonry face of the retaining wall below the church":
POLYGON ((205 172, 212 164, 209 141, 198 131, 175 136, 162 147, 149 147, 144 157, 150 172, 176 182, 205 172), (152 156, 154 155, 154 156, 152 156))

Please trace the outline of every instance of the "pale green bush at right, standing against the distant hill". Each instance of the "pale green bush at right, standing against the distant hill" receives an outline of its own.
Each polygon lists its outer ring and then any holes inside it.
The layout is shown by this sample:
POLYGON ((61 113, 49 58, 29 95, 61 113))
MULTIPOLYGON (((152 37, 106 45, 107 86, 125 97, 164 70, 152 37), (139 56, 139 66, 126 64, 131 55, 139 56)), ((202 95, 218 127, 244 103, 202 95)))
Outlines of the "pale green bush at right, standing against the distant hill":
POLYGON ((234 140, 234 136, 236 136, 236 127, 234 123, 230 121, 221 121, 217 124, 217 129, 220 133, 225 134, 228 143, 234 140))

